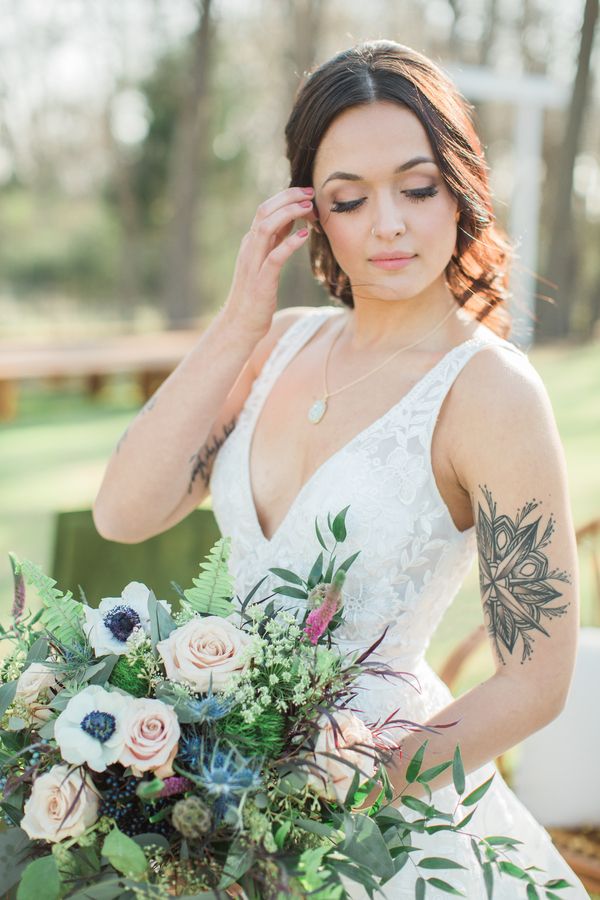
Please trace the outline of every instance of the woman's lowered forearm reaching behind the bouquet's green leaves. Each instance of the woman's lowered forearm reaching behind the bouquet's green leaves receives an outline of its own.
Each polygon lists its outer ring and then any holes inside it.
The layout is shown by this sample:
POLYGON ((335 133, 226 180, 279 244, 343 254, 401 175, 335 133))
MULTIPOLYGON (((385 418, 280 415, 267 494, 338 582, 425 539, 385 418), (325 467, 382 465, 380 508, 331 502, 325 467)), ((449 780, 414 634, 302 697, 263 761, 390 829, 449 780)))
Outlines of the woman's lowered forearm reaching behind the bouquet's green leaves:
MULTIPOLYGON (((456 722, 450 728, 437 729, 437 733, 414 732, 400 739, 401 752, 394 754, 388 765, 388 774, 394 798, 401 793, 427 799, 425 788, 418 782, 407 784, 406 771, 419 747, 428 741, 423 756, 421 772, 452 760, 456 745, 465 773, 473 772, 501 753, 514 747, 558 714, 559 710, 544 702, 535 685, 527 685, 524 679, 515 680, 504 673, 496 673, 487 681, 472 688, 454 700, 424 723, 430 727, 456 722)), ((452 783, 452 767, 428 782, 432 791, 452 783)), ((373 791, 367 803, 377 795, 373 791)), ((393 801, 396 805, 396 801, 393 801)))

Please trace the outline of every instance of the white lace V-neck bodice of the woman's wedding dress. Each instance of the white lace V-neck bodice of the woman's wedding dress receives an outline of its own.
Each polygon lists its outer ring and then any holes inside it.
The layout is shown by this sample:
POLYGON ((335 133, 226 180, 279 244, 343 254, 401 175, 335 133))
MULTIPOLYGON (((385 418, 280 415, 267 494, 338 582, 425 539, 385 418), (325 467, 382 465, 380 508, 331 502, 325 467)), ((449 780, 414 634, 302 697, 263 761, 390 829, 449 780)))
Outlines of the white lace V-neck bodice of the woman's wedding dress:
MULTIPOLYGON (((344 585, 343 650, 366 647, 389 625, 380 656, 415 667, 451 604, 475 555, 475 529, 459 531, 431 467, 433 430, 452 382, 489 339, 474 337, 450 350, 394 406, 329 457, 303 486, 271 539, 260 527, 250 484, 254 425, 279 374, 336 307, 316 308, 294 322, 254 382, 235 430, 215 460, 212 504, 221 533, 231 536, 230 570, 243 599, 268 571, 291 568, 307 577, 332 516, 349 506, 348 537, 337 563, 360 550, 344 585)), ((524 355, 510 344, 503 346, 524 355)), ((328 546, 333 546, 330 537, 328 546)), ((272 574, 266 596, 282 580, 272 574)), ((281 596, 281 605, 303 601, 281 596)))

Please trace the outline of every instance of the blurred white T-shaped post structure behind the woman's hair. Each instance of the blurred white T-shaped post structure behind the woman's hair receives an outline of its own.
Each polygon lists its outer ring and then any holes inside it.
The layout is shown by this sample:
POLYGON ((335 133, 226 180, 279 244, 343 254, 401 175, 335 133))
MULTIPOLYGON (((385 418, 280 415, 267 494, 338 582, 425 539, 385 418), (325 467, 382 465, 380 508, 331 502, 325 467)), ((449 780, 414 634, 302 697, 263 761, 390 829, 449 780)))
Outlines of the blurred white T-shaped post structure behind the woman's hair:
POLYGON ((538 261, 544 110, 566 106, 569 89, 541 75, 511 75, 481 66, 444 68, 468 100, 512 103, 515 108, 514 180, 508 231, 511 239, 519 242, 519 258, 511 271, 511 289, 521 308, 515 305, 511 308, 511 337, 527 352, 533 342, 535 292, 539 290, 534 273, 538 261))

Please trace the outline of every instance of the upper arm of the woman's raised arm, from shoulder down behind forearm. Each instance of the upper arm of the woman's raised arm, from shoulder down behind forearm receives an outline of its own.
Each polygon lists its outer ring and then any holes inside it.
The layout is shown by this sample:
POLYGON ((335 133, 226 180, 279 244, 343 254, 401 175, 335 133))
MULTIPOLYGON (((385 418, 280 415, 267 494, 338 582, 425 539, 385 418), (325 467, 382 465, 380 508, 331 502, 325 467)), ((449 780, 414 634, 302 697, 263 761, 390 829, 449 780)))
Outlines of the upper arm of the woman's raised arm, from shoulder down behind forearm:
POLYGON ((306 315, 306 310, 307 307, 303 306, 288 307, 277 310, 273 316, 271 328, 256 344, 227 394, 204 443, 190 460, 188 493, 165 520, 162 530, 166 531, 184 519, 209 494, 210 477, 215 459, 220 448, 235 429, 239 414, 252 390, 252 385, 277 341, 293 322, 306 315))

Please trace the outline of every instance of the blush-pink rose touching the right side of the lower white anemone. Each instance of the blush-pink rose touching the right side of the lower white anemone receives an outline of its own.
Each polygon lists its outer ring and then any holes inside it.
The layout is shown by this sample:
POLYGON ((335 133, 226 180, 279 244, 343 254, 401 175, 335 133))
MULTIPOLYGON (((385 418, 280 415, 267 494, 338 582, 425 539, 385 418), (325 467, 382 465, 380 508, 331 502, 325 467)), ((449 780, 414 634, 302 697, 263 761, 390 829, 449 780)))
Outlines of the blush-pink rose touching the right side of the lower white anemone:
POLYGON ((123 730, 125 746, 118 760, 122 766, 131 766, 137 778, 149 770, 159 778, 173 774, 180 729, 172 706, 162 700, 134 700, 123 730))

